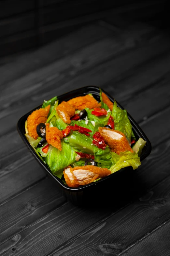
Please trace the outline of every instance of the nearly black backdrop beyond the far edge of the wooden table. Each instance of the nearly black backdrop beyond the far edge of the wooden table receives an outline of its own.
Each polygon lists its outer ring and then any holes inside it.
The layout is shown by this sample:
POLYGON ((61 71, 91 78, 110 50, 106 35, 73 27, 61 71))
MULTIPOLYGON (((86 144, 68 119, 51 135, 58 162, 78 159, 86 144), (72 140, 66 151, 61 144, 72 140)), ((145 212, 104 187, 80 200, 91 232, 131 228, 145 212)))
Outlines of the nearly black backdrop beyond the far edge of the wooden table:
POLYGON ((39 47, 99 19, 168 27, 166 1, 1 0, 0 57, 39 47), (115 19, 117 17, 117 19, 115 19))

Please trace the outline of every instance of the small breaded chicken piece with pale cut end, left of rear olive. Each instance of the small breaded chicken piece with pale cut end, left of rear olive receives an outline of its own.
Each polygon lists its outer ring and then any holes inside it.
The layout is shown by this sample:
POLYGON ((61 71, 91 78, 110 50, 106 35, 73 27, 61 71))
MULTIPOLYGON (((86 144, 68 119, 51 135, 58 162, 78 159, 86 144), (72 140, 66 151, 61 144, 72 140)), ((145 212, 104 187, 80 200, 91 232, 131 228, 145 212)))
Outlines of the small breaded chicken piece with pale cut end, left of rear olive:
POLYGON ((74 116, 75 114, 75 108, 74 106, 72 106, 71 104, 69 104, 66 101, 62 101, 62 103, 60 103, 57 108, 57 113, 58 115, 62 118, 62 120, 64 121, 64 123, 70 124, 71 120, 70 118, 72 116, 74 116))

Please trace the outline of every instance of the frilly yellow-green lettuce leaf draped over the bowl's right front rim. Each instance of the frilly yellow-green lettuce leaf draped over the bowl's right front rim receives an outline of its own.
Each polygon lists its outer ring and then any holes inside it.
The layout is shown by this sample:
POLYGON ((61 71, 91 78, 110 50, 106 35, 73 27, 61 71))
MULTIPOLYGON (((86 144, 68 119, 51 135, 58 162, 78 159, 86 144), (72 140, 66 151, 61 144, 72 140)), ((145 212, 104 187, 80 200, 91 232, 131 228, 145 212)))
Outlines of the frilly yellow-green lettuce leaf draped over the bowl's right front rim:
POLYGON ((141 164, 140 158, 135 152, 132 153, 130 151, 124 151, 124 152, 120 152, 120 155, 117 155, 116 153, 113 154, 113 152, 111 152, 111 154, 112 154, 112 161, 114 160, 113 165, 109 168, 111 173, 117 172, 121 168, 124 168, 127 166, 132 166, 133 169, 136 169, 141 164))

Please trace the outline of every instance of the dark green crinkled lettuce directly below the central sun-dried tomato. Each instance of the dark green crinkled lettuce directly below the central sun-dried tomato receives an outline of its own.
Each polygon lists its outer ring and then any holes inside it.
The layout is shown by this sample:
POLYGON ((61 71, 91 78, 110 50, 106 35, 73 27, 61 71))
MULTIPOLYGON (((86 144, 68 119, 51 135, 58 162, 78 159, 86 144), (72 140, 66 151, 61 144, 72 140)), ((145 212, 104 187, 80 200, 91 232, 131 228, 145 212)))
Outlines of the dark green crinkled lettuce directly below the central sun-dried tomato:
POLYGON ((112 165, 112 162, 110 161, 112 155, 110 148, 106 146, 106 148, 103 150, 98 147, 94 147, 94 161, 97 162, 98 167, 101 168, 107 168, 109 169, 112 165))

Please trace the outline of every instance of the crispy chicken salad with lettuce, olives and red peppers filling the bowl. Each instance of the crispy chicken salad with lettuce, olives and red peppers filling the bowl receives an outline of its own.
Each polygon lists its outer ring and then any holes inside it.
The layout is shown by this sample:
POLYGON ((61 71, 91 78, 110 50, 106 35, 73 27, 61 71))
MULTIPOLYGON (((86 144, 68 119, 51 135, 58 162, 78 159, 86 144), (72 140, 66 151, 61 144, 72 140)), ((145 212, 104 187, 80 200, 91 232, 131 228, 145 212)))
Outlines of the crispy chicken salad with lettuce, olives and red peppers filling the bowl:
POLYGON ((57 96, 33 111, 25 122, 25 136, 53 175, 69 187, 102 179, 121 168, 141 164, 146 142, 135 139, 126 110, 112 103, 100 89, 59 103, 57 96))

